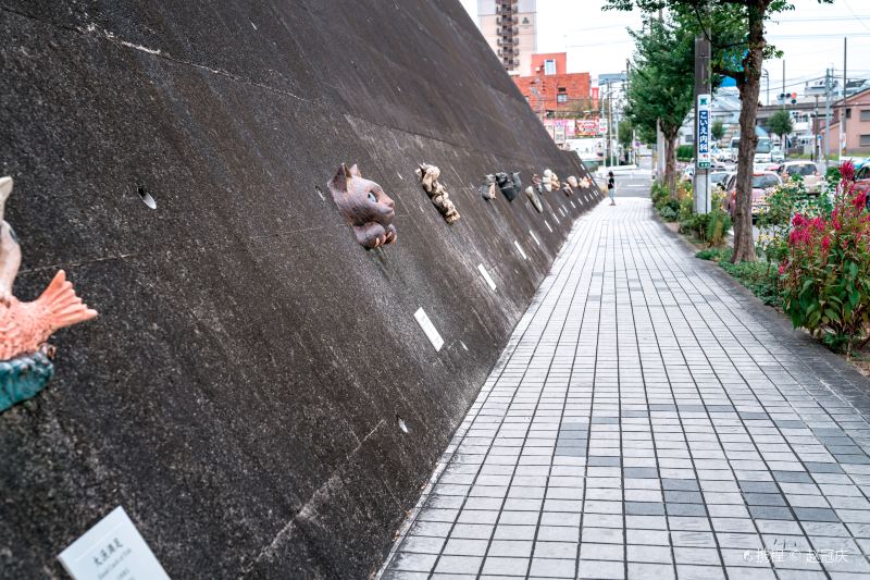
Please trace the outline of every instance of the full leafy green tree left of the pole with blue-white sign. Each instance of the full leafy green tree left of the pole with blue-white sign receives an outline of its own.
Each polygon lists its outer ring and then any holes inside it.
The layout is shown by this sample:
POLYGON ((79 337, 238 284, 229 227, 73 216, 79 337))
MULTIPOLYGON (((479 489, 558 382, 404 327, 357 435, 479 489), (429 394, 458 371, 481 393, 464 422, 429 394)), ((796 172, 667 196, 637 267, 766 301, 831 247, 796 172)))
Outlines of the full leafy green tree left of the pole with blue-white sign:
POLYGON ((625 114, 646 143, 656 141, 658 124, 664 136, 664 184, 675 197, 676 137, 693 103, 694 48, 671 22, 649 24, 632 33, 635 54, 625 114))

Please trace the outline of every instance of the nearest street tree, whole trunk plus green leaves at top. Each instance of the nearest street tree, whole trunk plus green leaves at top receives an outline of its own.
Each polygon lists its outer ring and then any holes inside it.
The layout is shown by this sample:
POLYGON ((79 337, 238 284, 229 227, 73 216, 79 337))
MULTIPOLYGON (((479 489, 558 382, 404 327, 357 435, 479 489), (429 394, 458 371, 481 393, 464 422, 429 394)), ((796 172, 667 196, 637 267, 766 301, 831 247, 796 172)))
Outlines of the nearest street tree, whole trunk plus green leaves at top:
MULTIPOLYGON (((817 0, 831 4, 833 0, 817 0)), ((605 10, 629 11, 638 8, 647 13, 668 9, 674 18, 688 25, 695 21, 712 46, 712 72, 730 76, 741 96, 741 141, 737 152, 737 195, 734 208, 734 262, 756 259, 753 243, 753 158, 758 136, 758 95, 761 89, 761 64, 765 58, 778 55, 765 38, 765 23, 772 16, 794 10, 788 0, 605 0, 605 10), (734 26, 737 28, 734 28, 734 26), (722 41, 741 35, 736 41, 722 41)))

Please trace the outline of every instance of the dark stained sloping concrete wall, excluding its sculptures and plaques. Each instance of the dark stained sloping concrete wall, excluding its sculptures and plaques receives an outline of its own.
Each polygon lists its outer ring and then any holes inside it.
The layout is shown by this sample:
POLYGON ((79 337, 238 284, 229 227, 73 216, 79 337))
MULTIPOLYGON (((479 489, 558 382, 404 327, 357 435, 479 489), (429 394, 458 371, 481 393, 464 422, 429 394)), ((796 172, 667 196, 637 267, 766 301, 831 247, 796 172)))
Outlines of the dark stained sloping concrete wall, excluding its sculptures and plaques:
POLYGON ((100 312, 0 415, 0 577, 65 577, 117 505, 172 578, 372 573, 600 196, 537 213, 483 177, 579 160, 455 0, 0 0, 0 37, 15 294, 63 268, 100 312), (356 243, 341 162, 396 201, 396 244, 356 243))

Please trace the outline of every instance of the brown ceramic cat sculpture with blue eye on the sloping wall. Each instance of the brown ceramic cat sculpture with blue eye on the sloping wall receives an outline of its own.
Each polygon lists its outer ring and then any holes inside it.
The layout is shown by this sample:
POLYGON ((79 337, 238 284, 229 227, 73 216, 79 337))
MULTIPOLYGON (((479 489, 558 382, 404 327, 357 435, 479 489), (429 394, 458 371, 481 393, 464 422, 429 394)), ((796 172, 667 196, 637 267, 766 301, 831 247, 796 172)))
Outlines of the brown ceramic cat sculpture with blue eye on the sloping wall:
POLYGON ((357 165, 347 169, 341 163, 328 187, 362 247, 372 249, 396 242, 396 203, 380 185, 363 178, 357 165))

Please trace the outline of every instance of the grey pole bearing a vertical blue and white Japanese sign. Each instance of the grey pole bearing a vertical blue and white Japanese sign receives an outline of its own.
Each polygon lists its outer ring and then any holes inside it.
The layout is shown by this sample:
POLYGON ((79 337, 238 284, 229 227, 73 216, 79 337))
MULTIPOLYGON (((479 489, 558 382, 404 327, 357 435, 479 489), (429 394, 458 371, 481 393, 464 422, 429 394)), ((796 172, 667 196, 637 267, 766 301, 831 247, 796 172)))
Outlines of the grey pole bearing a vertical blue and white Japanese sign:
POLYGON ((710 212, 710 41, 695 37, 695 212, 710 212))

